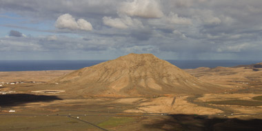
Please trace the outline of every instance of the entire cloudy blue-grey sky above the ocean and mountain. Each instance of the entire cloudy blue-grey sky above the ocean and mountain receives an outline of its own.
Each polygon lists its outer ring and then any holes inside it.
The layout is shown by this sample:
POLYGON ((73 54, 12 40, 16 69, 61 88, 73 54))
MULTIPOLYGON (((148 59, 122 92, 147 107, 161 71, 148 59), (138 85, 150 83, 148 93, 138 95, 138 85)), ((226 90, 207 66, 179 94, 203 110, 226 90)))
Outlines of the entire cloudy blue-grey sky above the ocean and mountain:
POLYGON ((262 61, 261 0, 0 0, 0 60, 262 61))

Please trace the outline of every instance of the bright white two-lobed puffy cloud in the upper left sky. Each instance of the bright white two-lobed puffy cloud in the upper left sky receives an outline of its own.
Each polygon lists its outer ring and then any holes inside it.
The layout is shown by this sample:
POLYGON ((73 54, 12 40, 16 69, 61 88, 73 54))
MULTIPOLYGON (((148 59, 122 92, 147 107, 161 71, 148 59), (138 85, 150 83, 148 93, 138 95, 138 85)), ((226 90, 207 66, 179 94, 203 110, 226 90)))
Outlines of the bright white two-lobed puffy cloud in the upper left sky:
POLYGON ((59 29, 69 29, 69 30, 92 30, 92 25, 85 19, 78 19, 77 21, 70 14, 63 14, 57 18, 55 27, 59 29))

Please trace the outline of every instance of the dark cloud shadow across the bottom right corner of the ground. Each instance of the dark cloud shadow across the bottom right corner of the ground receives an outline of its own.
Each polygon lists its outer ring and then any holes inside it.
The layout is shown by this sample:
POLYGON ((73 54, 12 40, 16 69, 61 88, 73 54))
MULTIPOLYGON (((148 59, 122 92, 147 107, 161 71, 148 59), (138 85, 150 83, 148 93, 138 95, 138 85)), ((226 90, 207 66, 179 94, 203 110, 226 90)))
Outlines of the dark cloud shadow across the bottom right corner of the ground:
POLYGON ((251 131, 262 129, 262 119, 228 119, 228 118, 208 118, 201 115, 174 114, 167 119, 145 124, 145 128, 150 130, 230 130, 230 131, 251 131))

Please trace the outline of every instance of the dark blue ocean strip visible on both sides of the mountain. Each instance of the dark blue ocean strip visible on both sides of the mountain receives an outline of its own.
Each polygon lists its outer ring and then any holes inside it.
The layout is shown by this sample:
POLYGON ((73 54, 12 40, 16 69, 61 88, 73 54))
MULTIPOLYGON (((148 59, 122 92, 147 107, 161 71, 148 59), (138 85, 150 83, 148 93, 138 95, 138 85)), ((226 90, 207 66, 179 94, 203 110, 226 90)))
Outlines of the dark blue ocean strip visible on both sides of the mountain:
MULTIPOLYGON (((105 61, 105 60, 104 60, 105 61)), ((94 66, 101 60, 83 61, 0 61, 0 72, 7 71, 33 71, 33 70, 78 70, 88 66, 94 66)), ((231 67, 250 65, 261 61, 236 61, 236 60, 167 60, 182 69, 199 67, 215 68, 216 66, 231 67)))

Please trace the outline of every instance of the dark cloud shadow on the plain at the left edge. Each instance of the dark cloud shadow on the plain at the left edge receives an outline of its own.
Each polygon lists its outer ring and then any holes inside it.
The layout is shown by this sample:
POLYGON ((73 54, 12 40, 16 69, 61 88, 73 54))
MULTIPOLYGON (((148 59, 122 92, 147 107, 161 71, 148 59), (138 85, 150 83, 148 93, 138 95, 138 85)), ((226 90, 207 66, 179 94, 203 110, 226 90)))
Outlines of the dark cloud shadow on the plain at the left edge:
POLYGON ((16 106, 24 103, 62 100, 57 96, 35 95, 35 94, 1 94, 0 106, 16 106))

